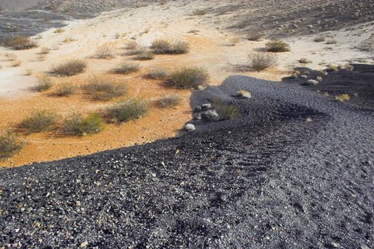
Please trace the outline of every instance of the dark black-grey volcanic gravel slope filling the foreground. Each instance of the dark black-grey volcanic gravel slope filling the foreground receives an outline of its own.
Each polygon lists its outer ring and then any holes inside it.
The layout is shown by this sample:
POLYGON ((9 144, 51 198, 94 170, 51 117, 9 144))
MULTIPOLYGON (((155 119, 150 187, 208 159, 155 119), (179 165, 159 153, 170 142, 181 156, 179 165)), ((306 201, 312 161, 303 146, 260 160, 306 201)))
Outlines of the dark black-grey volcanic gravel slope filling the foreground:
POLYGON ((232 76, 191 103, 232 102, 237 120, 2 169, 0 247, 373 248, 374 67, 357 68, 317 86, 232 76), (334 101, 342 88, 365 94, 334 101))

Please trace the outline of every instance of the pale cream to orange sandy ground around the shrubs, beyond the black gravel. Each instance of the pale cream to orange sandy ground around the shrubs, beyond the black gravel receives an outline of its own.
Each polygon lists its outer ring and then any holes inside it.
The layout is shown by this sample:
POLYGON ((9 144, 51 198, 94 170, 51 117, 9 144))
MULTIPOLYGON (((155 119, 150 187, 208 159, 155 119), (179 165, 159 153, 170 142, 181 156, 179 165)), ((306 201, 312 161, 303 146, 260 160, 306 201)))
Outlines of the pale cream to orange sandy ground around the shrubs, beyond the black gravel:
MULTIPOLYGON (((67 5, 69 3, 71 2, 65 2, 67 5)), ((291 1, 285 3, 289 6, 291 1)), ((183 97, 182 105, 179 107, 172 110, 153 108, 150 115, 141 120, 121 125, 108 124, 103 133, 90 137, 61 137, 53 133, 27 135, 24 136, 26 147, 11 159, 2 161, 0 165, 19 166, 33 161, 51 161, 175 136, 182 124, 191 117, 189 92, 170 90, 164 88, 161 81, 146 80, 142 76, 150 68, 163 67, 173 70, 184 65, 201 65, 207 68, 211 75, 209 84, 220 85, 229 75, 237 73, 280 81, 281 78, 289 75, 290 68, 300 65, 297 61, 300 58, 311 60, 308 66, 313 69, 323 69, 329 64, 344 65, 348 62, 373 63, 373 52, 358 49, 373 37, 373 23, 368 22, 370 18, 367 15, 371 9, 364 8, 367 1, 362 1, 361 5, 348 4, 348 1, 344 1, 342 4, 346 6, 344 8, 361 8, 363 9, 361 13, 365 15, 358 15, 356 21, 347 23, 344 27, 336 24, 335 28, 330 28, 342 29, 318 33, 318 36, 326 37, 326 41, 321 43, 313 41, 317 36, 315 32, 299 33, 299 36, 295 36, 297 32, 284 33, 288 36, 284 40, 290 43, 291 52, 279 53, 279 63, 276 68, 262 72, 249 70, 246 67, 247 54, 263 49, 267 40, 264 38, 262 41, 248 41, 246 31, 254 27, 242 25, 238 29, 234 27, 233 20, 243 20, 249 14, 259 18, 257 15, 264 14, 264 6, 257 9, 256 4, 259 4, 259 1, 246 5, 238 3, 229 5, 222 1, 187 3, 173 1, 164 5, 128 6, 125 9, 103 13, 95 18, 71 21, 64 28, 63 33, 54 33, 55 29, 51 28, 38 37, 39 48, 28 51, 10 51, 0 48, 0 127, 8 129, 14 127, 29 112, 39 108, 48 107, 56 110, 61 117, 66 117, 77 110, 85 113, 100 112, 113 103, 92 102, 83 91, 78 91, 73 97, 56 97, 53 95, 56 86, 43 93, 31 90, 37 77, 48 73, 53 65, 70 58, 84 59, 88 63, 86 73, 73 78, 53 79, 56 85, 70 82, 78 86, 84 85, 85 80, 93 73, 106 74, 121 60, 133 60, 131 56, 126 55, 127 51, 124 48, 126 41, 135 40, 141 46, 150 46, 155 38, 178 38, 187 40, 191 47, 190 52, 185 55, 157 55, 155 60, 140 62, 142 68, 140 73, 129 76, 113 75, 113 78, 128 83, 130 86, 128 97, 140 96, 152 101, 162 95, 177 92, 183 97), (116 38, 116 34, 120 36, 116 38), (71 38, 72 41, 64 43, 66 38, 71 38), (232 38, 239 38, 239 43, 230 46, 232 38), (326 44, 330 40, 336 40, 336 43, 326 44), (93 58, 97 48, 103 44, 110 44, 115 48, 116 58, 112 60, 93 58), (43 47, 51 48, 51 52, 48 55, 41 55, 40 50, 43 47), (6 57, 7 53, 14 53, 22 64, 19 67, 12 67, 12 62, 6 57), (32 70, 33 75, 26 75, 26 70, 32 70)), ((270 6, 269 10, 276 7, 274 3, 270 6)), ((286 6, 282 9, 286 9, 286 6)), ((312 2, 308 2, 306 6, 310 8, 312 2)), ((103 10, 107 10, 106 8, 107 6, 103 7, 103 10)), ((302 12, 306 9, 304 6, 296 5, 294 11, 302 12)), ((280 11, 274 13, 274 15, 281 15, 280 11)), ((316 20, 316 16, 307 16, 305 19, 305 21, 316 20)), ((259 27, 264 28, 264 31, 273 31, 266 26, 259 27)))

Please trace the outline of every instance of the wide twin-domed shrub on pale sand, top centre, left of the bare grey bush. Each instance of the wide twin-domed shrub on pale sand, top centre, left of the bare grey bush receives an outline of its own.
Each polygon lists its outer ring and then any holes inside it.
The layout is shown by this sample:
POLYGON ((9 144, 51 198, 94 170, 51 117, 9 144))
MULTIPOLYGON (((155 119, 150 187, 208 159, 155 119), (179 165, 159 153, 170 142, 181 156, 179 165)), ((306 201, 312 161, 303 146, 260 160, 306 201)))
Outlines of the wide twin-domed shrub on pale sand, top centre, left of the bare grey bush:
POLYGON ((165 38, 152 41, 153 51, 157 54, 182 54, 188 53, 189 45, 186 41, 170 41, 165 38))

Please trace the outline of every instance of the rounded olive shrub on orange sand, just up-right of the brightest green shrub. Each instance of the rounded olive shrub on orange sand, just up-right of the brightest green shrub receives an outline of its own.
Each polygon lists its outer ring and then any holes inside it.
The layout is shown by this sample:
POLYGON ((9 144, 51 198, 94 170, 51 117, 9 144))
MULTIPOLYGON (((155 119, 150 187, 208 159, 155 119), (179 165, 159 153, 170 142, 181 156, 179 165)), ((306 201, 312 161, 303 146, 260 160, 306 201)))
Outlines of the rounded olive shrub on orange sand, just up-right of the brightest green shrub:
POLYGON ((109 107, 108 115, 118 122, 127 122, 146 115, 149 108, 149 104, 145 100, 129 99, 109 107))

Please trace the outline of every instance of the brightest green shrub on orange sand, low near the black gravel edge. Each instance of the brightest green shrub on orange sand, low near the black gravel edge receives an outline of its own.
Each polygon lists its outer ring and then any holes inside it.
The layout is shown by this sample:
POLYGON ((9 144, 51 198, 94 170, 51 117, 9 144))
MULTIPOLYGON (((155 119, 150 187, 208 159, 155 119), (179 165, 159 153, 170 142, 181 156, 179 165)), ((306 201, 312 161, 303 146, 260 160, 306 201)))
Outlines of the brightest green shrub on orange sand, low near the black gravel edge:
POLYGON ((68 134, 85 136, 95 134, 104 129, 104 121, 97 114, 90 114, 87 117, 74 113, 63 122, 63 130, 68 134))

